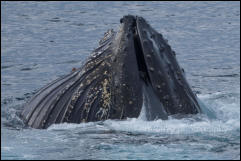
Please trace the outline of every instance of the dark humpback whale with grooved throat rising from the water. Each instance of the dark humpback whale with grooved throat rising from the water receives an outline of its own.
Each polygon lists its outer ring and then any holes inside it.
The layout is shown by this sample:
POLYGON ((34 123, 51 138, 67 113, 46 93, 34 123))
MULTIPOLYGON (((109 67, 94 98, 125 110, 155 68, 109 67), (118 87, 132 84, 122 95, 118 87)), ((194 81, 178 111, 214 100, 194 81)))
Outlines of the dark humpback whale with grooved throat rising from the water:
POLYGON ((202 113, 162 34, 139 16, 124 16, 120 23, 82 67, 33 95, 21 113, 28 126, 136 118, 144 102, 147 120, 202 113))

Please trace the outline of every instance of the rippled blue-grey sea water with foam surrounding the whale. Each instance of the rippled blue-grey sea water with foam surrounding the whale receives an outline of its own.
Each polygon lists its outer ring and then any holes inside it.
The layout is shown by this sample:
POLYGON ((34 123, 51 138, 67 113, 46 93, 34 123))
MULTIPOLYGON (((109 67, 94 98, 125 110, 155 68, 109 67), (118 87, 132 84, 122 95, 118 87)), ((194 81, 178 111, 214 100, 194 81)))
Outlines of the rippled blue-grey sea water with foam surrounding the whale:
POLYGON ((240 2, 2 2, 1 159, 240 159, 240 2), (107 29, 143 16, 215 111, 25 128, 37 89, 80 67, 107 29))

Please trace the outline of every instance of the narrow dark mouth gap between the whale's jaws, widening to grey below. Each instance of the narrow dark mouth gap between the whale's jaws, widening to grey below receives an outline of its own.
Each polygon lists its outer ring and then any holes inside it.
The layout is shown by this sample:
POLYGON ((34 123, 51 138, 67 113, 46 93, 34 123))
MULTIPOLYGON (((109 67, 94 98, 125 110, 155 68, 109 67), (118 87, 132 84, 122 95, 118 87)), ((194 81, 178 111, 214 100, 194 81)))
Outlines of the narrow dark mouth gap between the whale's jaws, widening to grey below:
POLYGON ((151 77, 149 74, 150 67, 148 68, 147 60, 151 58, 150 55, 147 55, 143 51, 143 43, 141 41, 141 36, 137 27, 138 17, 135 17, 134 23, 131 25, 133 32, 133 43, 134 43, 134 54, 137 62, 137 69, 139 72, 139 77, 142 84, 142 109, 145 111, 146 120, 156 120, 156 119, 168 119, 168 114, 164 108, 164 105, 158 98, 155 90, 153 89, 153 84, 151 82, 151 77), (149 70, 149 71, 148 71, 149 70))

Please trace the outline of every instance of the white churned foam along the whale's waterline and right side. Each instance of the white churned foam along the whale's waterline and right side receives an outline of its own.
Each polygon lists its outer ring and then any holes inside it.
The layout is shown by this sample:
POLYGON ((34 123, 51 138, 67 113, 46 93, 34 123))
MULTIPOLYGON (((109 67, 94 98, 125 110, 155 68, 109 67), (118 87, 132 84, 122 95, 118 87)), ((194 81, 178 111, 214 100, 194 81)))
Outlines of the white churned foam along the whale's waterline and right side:
POLYGON ((52 125, 48 130, 70 130, 70 129, 93 129, 93 130, 113 130, 137 133, 157 133, 157 134, 197 134, 205 133, 217 135, 218 133, 240 129, 240 109, 238 102, 230 103, 228 100, 215 99, 222 93, 213 95, 201 95, 201 101, 205 102, 209 108, 217 113, 217 119, 210 120, 203 114, 194 115, 188 118, 168 120, 146 121, 145 106, 139 118, 128 118, 127 120, 106 120, 104 122, 89 122, 82 124, 58 124, 52 125), (211 102, 211 104, 210 104, 211 102))

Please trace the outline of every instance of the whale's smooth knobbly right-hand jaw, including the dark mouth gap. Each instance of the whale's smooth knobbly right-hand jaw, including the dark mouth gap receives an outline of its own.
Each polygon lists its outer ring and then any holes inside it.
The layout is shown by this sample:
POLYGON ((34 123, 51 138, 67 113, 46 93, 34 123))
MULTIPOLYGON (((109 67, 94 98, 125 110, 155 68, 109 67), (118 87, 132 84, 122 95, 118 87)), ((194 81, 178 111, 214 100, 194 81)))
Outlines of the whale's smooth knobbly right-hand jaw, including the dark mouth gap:
POLYGON ((186 81, 175 52, 163 36, 142 17, 126 16, 122 22, 131 22, 128 31, 131 29, 133 32, 134 54, 144 100, 149 100, 147 118, 166 119, 168 115, 200 113, 197 98, 186 81))

